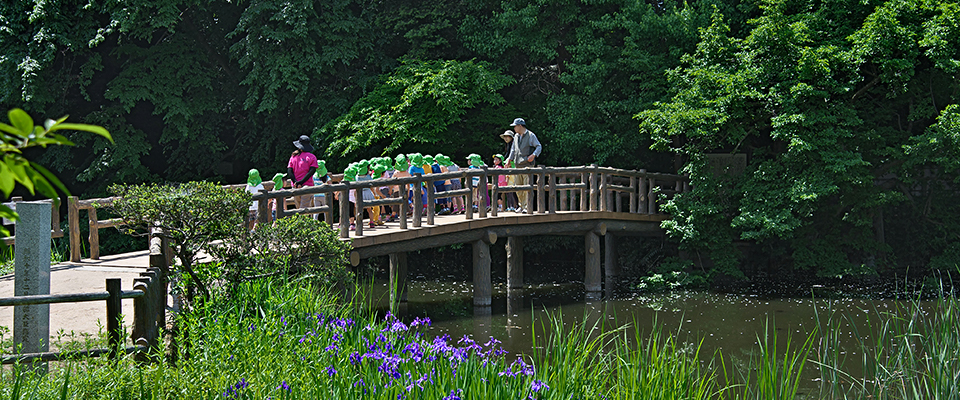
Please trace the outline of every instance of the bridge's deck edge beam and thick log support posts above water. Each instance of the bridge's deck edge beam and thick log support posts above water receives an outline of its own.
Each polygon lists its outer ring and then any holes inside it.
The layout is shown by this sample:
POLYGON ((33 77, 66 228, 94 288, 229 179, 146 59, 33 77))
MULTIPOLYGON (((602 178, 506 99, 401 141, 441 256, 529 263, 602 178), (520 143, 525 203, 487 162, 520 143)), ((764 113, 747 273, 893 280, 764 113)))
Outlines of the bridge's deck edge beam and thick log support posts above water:
POLYGON ((393 231, 374 231, 369 236, 351 239, 354 251, 351 262, 356 265, 361 259, 389 255, 391 303, 406 301, 407 268, 406 254, 456 243, 473 247, 474 305, 490 306, 492 285, 490 280, 490 245, 498 240, 507 242, 507 287, 523 287, 524 236, 538 235, 583 235, 584 236, 584 289, 599 292, 606 275, 607 288, 618 274, 617 255, 614 245, 617 236, 660 236, 660 223, 666 215, 628 214, 614 212, 570 212, 539 215, 514 215, 477 220, 440 221, 433 226, 393 231), (600 237, 605 236, 604 247, 600 237), (606 260, 601 270, 601 256, 606 260))

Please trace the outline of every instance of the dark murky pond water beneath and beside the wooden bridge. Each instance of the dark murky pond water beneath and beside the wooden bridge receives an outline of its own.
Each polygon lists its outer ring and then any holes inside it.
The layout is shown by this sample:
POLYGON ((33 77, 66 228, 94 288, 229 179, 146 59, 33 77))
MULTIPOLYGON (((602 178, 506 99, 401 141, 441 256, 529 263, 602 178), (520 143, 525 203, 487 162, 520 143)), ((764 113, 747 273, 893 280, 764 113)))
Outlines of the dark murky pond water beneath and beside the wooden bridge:
MULTIPOLYGON (((387 287, 386 281, 373 283, 372 295, 381 309, 388 307, 387 287)), ((892 299, 773 297, 711 291, 594 298, 587 296, 583 285, 577 283, 530 285, 510 293, 505 285, 499 285, 494 287, 491 307, 475 308, 470 282, 412 281, 408 290, 408 303, 401 315, 430 317, 433 323, 429 335, 469 335, 481 343, 494 337, 514 354, 532 354, 535 337, 536 343, 542 345, 546 339, 542 324, 550 316, 562 318, 565 326, 584 322, 603 325, 607 330, 626 326, 627 338, 635 337, 636 329, 648 333, 659 326, 688 346, 702 340, 702 357, 713 358, 719 350, 728 360, 746 359, 758 351, 758 337, 765 331, 775 331, 781 347, 788 336, 792 337, 792 347, 799 346, 817 330, 818 319, 825 324, 832 317, 835 323, 831 330, 839 338, 841 354, 852 360, 844 365, 844 370, 853 376, 861 374, 858 338, 869 339, 881 315, 917 309, 915 302, 892 299)), ((920 302, 921 311, 930 307, 935 304, 920 302)), ((816 354, 811 358, 816 358, 816 354)), ((808 363, 802 386, 807 390, 816 387, 819 377, 817 366, 808 363)))

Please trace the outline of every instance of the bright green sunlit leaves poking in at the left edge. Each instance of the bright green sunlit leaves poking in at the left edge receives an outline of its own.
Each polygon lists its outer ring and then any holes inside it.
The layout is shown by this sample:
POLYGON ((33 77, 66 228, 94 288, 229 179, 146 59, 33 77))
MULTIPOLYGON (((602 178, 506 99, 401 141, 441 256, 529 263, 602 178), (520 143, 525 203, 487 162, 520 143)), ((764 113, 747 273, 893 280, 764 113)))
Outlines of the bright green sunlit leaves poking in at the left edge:
MULTIPOLYGON (((48 119, 43 126, 34 125, 33 118, 25 111, 15 108, 7 112, 10 124, 0 122, 0 192, 4 197, 13 193, 17 184, 25 188, 31 195, 37 194, 51 199, 59 199, 59 189, 63 194, 70 195, 60 179, 46 168, 23 155, 23 151, 32 147, 72 146, 73 143, 63 135, 55 133, 63 130, 85 131, 95 133, 107 140, 112 140, 110 132, 99 126, 74 124, 66 122, 67 117, 56 121, 48 119)), ((0 217, 17 220, 17 213, 5 205, 0 204, 0 217)), ((0 226, 0 235, 7 236, 10 232, 0 226)))

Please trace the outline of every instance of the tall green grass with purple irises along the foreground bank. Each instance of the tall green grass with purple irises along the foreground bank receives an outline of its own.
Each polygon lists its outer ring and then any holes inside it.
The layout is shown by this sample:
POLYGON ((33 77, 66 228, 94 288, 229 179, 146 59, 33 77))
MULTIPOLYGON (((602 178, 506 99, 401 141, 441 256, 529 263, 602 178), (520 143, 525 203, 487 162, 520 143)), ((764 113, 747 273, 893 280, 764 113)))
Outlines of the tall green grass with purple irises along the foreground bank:
POLYGON ((679 329, 564 326, 550 314, 537 321, 546 335, 534 354, 511 360, 496 340, 427 338, 428 321, 378 316, 357 308, 359 295, 342 299, 304 281, 230 290, 180 316, 176 365, 77 359, 46 375, 17 365, 0 369, 0 399, 952 400, 960 389, 952 298, 875 312, 854 333, 857 357, 837 345, 844 316, 828 315, 803 339, 778 336, 770 323, 751 356, 728 363, 679 329), (799 393, 808 361, 820 369, 819 393, 799 393), (867 373, 854 377, 851 362, 867 373))

